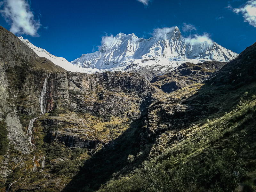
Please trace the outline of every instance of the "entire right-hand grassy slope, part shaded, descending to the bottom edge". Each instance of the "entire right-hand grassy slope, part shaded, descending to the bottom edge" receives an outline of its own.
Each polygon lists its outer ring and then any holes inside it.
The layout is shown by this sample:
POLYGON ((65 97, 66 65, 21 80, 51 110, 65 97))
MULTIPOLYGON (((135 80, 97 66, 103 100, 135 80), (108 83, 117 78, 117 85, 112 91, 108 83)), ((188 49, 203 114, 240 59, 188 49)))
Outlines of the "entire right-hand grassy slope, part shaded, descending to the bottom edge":
POLYGON ((143 126, 153 142, 148 160, 99 191, 255 191, 255 52, 253 44, 206 84, 151 104, 143 126))

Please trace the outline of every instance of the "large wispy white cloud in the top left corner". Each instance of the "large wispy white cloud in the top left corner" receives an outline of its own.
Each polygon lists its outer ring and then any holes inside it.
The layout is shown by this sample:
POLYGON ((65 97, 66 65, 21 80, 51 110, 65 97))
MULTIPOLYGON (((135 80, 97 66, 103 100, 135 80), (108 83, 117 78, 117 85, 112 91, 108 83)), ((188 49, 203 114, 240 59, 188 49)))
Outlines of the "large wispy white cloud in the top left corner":
MULTIPOLYGON (((1 4, 0 4, 1 5, 1 4)), ((33 12, 30 10, 26 0, 4 0, 0 10, 2 16, 11 25, 10 31, 17 35, 38 36, 37 30, 41 24, 34 19, 33 12)))

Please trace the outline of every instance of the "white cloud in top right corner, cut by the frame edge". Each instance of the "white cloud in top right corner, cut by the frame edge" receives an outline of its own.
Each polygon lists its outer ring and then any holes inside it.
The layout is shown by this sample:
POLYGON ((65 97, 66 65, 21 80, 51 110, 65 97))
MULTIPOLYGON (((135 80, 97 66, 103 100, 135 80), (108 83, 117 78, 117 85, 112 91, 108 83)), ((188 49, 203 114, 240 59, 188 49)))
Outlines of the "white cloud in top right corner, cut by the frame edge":
POLYGON ((256 0, 247 1, 242 7, 233 9, 233 12, 237 14, 241 12, 244 22, 256 27, 256 0))

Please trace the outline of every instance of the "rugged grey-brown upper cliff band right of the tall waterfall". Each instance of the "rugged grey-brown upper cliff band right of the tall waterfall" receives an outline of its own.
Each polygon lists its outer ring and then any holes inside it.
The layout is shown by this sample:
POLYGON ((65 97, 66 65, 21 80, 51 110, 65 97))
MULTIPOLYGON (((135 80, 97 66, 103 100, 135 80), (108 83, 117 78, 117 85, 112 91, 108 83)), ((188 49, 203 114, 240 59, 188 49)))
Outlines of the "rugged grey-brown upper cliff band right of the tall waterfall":
POLYGON ((121 72, 52 74, 48 87, 48 111, 53 109, 54 100, 63 98, 72 110, 98 115, 124 114, 131 108, 130 102, 138 103, 148 92, 155 91, 139 74, 121 72), (129 97, 135 94, 139 98, 131 100, 129 97))

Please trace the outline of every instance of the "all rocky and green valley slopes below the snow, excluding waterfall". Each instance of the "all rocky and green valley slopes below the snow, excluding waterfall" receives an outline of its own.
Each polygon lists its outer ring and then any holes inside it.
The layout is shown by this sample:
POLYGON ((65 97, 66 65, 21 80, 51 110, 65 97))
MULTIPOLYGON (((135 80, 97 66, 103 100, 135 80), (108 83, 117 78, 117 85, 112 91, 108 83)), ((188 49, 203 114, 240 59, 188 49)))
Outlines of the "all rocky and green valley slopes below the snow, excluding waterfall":
POLYGON ((66 72, 0 32, 0 191, 256 190, 256 44, 150 83, 66 72))

